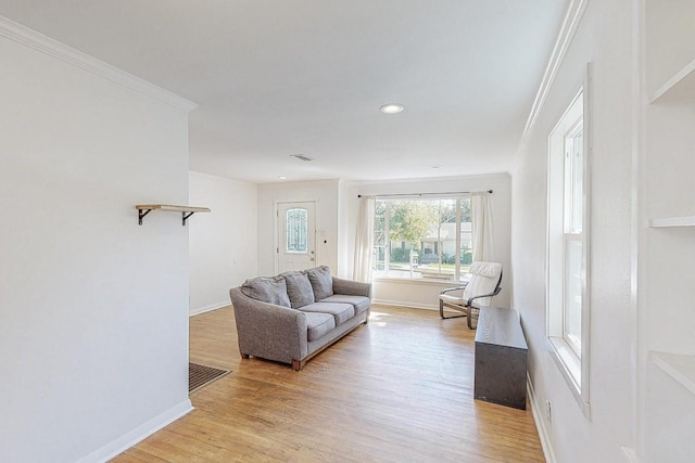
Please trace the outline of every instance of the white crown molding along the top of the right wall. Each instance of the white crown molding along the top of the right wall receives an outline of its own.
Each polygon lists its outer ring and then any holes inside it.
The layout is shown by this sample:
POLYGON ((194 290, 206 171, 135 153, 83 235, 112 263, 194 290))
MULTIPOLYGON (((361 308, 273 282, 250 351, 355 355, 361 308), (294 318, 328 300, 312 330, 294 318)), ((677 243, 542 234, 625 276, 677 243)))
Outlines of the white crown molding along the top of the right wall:
POLYGON ((551 91, 553 83, 555 82, 557 72, 563 65, 565 55, 567 54, 567 50, 572 43, 572 40, 577 35, 577 30, 579 29, 579 25, 584 17, 584 13, 586 12, 589 2, 590 0, 572 0, 569 8, 567 9, 567 14, 565 15, 563 27, 560 28, 560 33, 557 36, 557 40, 555 40, 553 53, 551 53, 551 59, 545 68, 545 73, 543 74, 543 79, 541 80, 541 87, 535 94, 533 106, 531 106, 531 113, 529 114, 529 118, 526 121, 523 136, 521 137, 521 143, 519 144, 517 153, 521 153, 523 151, 529 138, 531 137, 531 132, 535 127, 535 123, 541 114, 541 111, 543 110, 543 106, 545 105, 547 94, 551 91))

